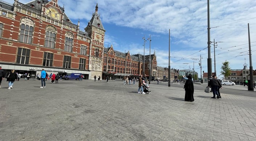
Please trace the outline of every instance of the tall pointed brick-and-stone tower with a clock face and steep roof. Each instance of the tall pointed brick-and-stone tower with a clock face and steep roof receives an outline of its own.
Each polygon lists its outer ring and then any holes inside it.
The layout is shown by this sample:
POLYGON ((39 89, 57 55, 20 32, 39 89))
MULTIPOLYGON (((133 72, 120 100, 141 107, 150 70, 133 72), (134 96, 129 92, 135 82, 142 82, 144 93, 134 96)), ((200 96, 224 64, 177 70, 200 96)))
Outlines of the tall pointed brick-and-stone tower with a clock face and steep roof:
POLYGON ((85 27, 85 32, 88 33, 90 40, 89 54, 89 70, 92 72, 92 79, 96 76, 102 77, 102 59, 104 48, 105 29, 102 25, 100 15, 98 14, 98 4, 95 7, 92 19, 85 27))

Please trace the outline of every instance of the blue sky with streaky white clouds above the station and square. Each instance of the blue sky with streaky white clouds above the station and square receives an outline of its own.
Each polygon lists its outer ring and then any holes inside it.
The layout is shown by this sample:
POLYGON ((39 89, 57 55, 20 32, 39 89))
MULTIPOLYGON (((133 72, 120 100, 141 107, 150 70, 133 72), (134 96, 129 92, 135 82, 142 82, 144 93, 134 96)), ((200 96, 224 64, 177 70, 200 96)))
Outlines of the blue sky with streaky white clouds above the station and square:
MULTIPOLYGON (((194 61, 195 71, 200 74, 199 61, 193 59, 202 55, 202 71, 207 72, 207 0, 58 0, 73 23, 80 19, 81 31, 97 3, 106 30, 105 47, 113 44, 114 50, 143 54, 142 38, 151 35, 151 54, 155 51, 158 66, 168 67, 170 29, 171 68, 192 70, 194 61)), ((256 69, 255 9, 255 0, 210 0, 210 27, 215 27, 211 28, 211 41, 219 42, 215 48, 217 76, 226 60, 231 69, 243 69, 245 62, 249 68, 248 23, 252 66, 256 69)), ((149 41, 145 54, 149 54, 149 41)), ((213 45, 211 58, 214 72, 213 45)))

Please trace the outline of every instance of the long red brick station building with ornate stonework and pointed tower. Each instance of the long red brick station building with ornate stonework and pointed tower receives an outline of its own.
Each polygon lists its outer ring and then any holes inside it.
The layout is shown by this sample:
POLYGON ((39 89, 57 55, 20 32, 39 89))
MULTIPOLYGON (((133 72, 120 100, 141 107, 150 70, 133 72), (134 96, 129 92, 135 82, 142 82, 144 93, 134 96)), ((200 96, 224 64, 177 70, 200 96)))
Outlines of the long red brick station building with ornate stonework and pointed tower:
MULTIPOLYGON (((32 78, 41 70, 47 73, 82 73, 84 79, 149 76, 149 55, 105 48, 105 29, 98 14, 81 30, 70 21, 58 0, 33 0, 27 4, 0 0, 0 66, 6 72, 15 69, 32 78)), ((156 79, 157 58, 151 56, 151 76, 156 79), (153 74, 154 73, 154 74, 153 74)))

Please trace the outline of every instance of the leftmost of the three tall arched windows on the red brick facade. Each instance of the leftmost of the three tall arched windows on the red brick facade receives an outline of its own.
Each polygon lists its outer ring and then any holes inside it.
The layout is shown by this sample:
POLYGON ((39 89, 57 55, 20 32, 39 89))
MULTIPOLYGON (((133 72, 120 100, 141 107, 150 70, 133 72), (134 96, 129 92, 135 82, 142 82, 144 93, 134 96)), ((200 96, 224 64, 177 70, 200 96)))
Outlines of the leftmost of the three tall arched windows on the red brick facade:
POLYGON ((20 42, 32 43, 34 22, 29 18, 21 19, 20 42))

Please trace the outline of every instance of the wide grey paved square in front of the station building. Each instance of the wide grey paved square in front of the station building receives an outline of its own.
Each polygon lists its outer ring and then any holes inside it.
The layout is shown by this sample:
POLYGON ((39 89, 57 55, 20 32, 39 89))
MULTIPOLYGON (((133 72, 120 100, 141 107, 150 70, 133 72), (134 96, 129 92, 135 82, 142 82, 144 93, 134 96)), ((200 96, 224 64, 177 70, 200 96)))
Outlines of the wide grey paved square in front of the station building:
POLYGON ((256 141, 256 98, 121 81, 16 81, 0 89, 0 141, 256 141))

